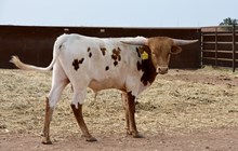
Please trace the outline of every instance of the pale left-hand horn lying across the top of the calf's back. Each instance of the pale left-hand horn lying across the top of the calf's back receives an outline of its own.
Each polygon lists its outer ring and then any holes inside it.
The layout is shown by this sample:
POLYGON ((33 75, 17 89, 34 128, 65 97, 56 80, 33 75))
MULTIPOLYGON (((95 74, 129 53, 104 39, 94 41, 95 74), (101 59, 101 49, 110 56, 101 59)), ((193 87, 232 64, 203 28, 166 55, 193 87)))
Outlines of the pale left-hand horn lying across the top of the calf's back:
POLYGON ((120 42, 133 45, 148 45, 148 39, 144 37, 122 38, 120 42))

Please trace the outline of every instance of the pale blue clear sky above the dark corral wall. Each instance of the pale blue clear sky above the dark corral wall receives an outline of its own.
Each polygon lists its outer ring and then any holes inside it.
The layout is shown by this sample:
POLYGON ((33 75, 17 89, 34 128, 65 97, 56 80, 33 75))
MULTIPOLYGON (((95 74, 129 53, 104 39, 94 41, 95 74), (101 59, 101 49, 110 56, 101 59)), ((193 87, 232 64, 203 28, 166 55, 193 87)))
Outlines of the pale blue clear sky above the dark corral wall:
POLYGON ((0 25, 207 27, 238 18, 238 0, 0 0, 0 25))

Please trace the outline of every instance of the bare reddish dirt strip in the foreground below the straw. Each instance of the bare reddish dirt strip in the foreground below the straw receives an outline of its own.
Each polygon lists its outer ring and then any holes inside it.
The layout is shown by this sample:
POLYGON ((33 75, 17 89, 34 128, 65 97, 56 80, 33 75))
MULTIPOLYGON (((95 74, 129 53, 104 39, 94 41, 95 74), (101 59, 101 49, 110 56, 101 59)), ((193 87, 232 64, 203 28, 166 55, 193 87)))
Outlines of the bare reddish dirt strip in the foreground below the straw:
POLYGON ((98 136, 98 141, 87 142, 77 135, 53 138, 53 145, 41 145, 40 136, 0 135, 1 151, 76 151, 76 150, 161 150, 161 151, 235 151, 238 149, 238 129, 220 128, 193 134, 173 134, 131 138, 125 135, 98 136))

